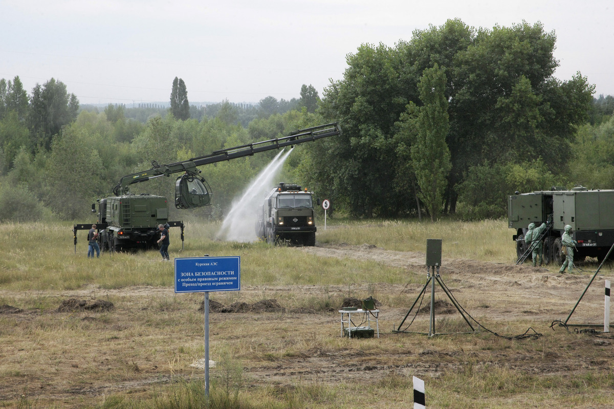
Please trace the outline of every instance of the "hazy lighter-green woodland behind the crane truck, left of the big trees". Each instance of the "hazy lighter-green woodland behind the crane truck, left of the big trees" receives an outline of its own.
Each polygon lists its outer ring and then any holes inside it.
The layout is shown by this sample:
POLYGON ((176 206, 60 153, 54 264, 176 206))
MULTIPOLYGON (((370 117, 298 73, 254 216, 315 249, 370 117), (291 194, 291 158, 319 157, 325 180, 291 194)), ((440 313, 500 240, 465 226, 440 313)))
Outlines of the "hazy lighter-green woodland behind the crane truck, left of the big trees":
MULTIPOLYGON (((76 96, 53 78, 37 84, 31 95, 19 77, 2 79, 0 221, 88 220, 91 203, 109 196, 123 175, 149 169, 153 160, 182 161, 314 124, 317 120, 309 110, 315 110, 317 101, 313 103, 308 97, 319 96, 313 86, 303 88, 314 93, 295 99, 293 108, 283 114, 279 113, 282 104, 266 97, 257 107, 228 101, 208 105, 203 107, 207 115, 192 119, 195 107, 190 106, 187 112, 187 87, 180 78, 173 81, 168 108, 127 109, 122 104, 109 104, 101 112, 95 107, 80 109, 76 96), (243 124, 248 115, 252 117, 243 124)), ((205 169, 212 186, 223 186, 214 189, 214 211, 209 216, 221 216, 271 155, 205 169)), ((173 197, 173 189, 174 184, 165 179, 133 191, 173 197)))

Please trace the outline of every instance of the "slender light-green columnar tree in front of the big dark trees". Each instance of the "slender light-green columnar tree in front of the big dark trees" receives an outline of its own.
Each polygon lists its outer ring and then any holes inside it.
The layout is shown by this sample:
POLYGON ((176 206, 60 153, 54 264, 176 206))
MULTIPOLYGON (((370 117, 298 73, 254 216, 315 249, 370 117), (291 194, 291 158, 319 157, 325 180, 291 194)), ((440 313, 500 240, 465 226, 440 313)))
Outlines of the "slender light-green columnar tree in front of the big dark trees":
POLYGON ((443 207, 443 193, 450 171, 450 151, 446 145, 448 135, 448 100, 444 95, 446 75, 437 63, 424 70, 418 84, 424 105, 417 107, 416 142, 411 147, 419 196, 435 221, 443 207))

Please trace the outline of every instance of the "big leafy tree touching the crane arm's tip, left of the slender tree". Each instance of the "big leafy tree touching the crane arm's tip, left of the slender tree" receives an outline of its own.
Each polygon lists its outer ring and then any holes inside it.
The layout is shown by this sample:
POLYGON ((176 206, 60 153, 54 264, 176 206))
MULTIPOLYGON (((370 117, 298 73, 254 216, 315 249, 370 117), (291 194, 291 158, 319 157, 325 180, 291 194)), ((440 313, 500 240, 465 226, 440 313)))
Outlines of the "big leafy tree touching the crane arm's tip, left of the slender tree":
POLYGON ((408 103, 398 80, 402 59, 383 44, 361 45, 346 59, 344 80, 325 89, 321 106, 325 120, 338 121, 343 134, 308 147, 307 173, 317 178, 309 186, 352 216, 405 215, 413 208, 413 194, 394 185, 402 164, 393 139, 408 103))

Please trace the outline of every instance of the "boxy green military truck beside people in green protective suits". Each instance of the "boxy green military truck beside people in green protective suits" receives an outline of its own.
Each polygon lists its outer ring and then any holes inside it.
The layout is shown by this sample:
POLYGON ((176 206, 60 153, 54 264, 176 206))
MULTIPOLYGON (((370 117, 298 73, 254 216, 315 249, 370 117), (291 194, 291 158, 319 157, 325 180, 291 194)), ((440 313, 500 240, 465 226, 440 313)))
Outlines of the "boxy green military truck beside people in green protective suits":
MULTIPOLYGON (((561 264, 561 236, 565 225, 573 228, 578 242, 573 258, 587 257, 601 262, 614 243, 614 190, 591 190, 583 186, 573 189, 553 186, 550 190, 515 194, 508 197, 508 227, 515 229, 513 240, 520 258, 527 249, 524 234, 530 223, 539 226, 551 218, 552 227, 544 236, 544 262, 561 264)), ((611 257, 611 256, 610 256, 611 257)))

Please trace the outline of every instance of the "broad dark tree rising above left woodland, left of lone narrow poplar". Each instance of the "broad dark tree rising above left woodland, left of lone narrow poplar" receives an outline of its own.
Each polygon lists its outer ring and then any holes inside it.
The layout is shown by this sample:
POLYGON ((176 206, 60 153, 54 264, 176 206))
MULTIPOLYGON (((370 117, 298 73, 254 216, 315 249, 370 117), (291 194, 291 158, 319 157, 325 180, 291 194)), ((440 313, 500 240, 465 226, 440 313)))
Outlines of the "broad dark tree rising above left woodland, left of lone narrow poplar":
POLYGON ((77 117, 79 100, 68 94, 66 85, 51 78, 44 85, 38 83, 32 90, 29 110, 29 127, 34 145, 50 150, 53 136, 77 117))

